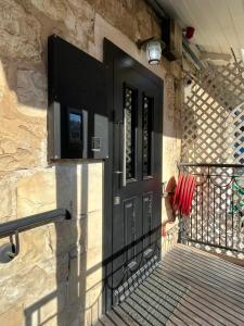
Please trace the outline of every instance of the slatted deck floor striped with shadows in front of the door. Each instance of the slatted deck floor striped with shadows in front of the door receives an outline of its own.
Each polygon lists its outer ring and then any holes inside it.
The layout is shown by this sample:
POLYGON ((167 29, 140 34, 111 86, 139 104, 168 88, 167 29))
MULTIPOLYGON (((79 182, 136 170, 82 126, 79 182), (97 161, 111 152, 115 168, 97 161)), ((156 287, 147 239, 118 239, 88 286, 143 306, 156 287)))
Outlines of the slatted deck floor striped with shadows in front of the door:
POLYGON ((244 268, 177 244, 98 325, 244 325, 244 268))

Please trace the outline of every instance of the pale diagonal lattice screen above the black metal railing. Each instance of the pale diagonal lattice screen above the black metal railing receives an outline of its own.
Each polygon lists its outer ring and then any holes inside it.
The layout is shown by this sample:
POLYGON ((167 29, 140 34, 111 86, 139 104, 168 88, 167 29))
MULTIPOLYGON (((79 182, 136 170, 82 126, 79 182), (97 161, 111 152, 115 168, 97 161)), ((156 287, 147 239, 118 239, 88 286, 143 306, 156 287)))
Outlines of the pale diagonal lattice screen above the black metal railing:
POLYGON ((185 92, 182 161, 244 163, 243 63, 209 66, 185 92))

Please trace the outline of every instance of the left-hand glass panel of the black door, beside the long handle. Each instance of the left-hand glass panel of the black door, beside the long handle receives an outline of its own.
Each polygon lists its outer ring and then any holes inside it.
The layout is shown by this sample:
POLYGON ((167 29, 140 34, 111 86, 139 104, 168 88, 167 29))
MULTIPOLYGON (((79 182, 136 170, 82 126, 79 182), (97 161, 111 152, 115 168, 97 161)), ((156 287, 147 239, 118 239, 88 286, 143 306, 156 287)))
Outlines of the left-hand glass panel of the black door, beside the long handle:
POLYGON ((124 89, 124 114, 125 114, 125 167, 126 179, 136 177, 136 105, 137 91, 129 87, 124 89))

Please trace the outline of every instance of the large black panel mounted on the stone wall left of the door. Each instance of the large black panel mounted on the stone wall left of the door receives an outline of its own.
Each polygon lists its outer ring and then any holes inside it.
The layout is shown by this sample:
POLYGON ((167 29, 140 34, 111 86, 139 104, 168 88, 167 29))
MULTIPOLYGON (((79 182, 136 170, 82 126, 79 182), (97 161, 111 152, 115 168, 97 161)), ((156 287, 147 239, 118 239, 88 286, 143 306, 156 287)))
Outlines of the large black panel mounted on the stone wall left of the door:
POLYGON ((50 158, 107 158, 103 63, 56 35, 48 49, 50 158))

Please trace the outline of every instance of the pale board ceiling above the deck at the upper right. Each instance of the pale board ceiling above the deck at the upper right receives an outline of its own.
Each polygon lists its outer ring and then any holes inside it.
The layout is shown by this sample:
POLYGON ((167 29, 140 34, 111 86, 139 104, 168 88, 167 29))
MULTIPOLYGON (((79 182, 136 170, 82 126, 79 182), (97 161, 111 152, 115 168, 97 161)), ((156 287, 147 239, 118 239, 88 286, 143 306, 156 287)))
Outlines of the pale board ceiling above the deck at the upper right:
POLYGON ((195 28, 192 43, 202 51, 229 53, 244 48, 244 0, 157 0, 182 28, 195 28))

